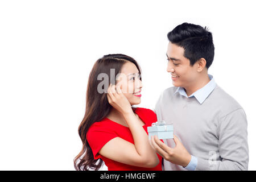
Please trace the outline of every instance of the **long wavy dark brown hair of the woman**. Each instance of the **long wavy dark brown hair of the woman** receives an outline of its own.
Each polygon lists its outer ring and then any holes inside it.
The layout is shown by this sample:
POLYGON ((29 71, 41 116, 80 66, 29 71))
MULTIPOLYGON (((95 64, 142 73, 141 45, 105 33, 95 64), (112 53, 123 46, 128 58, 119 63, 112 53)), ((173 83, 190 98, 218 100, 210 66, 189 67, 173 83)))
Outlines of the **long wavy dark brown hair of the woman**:
POLYGON ((98 84, 101 82, 101 80, 98 80, 97 77, 100 75, 100 73, 107 74, 108 78, 110 78, 108 83, 109 86, 110 81, 112 82, 113 79, 115 79, 115 76, 121 72, 123 64, 127 63, 127 61, 134 63, 141 74, 141 68, 139 67, 137 61, 130 56, 122 54, 105 55, 98 59, 93 65, 86 90, 85 115, 79 125, 78 130, 79 136, 82 140, 82 150, 74 159, 74 166, 77 171, 88 171, 89 169, 98 170, 103 164, 102 159, 93 158, 92 149, 86 140, 86 133, 89 130, 89 127, 92 126, 93 123, 100 122, 102 119, 104 119, 112 108, 108 102, 106 93, 99 93, 97 90, 98 84), (114 78, 110 77, 113 76, 113 73, 110 74, 110 69, 114 69, 115 71, 114 78))

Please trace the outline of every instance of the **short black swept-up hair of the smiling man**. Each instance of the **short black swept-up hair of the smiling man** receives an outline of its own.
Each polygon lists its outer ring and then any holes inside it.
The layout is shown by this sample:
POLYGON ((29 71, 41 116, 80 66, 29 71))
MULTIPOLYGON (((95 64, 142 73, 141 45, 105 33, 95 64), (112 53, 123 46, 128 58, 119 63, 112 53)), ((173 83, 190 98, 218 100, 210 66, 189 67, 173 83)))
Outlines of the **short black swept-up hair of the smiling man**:
POLYGON ((196 24, 183 23, 167 34, 171 43, 184 48, 184 57, 194 65, 197 60, 204 58, 209 68, 214 57, 212 33, 208 28, 196 24))

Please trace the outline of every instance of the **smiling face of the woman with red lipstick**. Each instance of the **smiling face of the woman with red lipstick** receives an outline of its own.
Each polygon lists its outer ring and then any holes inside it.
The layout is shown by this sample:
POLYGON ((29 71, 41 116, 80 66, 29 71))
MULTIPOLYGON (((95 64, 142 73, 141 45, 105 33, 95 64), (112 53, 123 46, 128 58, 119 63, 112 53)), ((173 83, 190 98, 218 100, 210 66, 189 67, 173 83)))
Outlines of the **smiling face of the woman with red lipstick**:
POLYGON ((140 77, 136 65, 127 61, 116 78, 116 84, 120 85, 123 95, 131 105, 141 103, 142 82, 140 77))

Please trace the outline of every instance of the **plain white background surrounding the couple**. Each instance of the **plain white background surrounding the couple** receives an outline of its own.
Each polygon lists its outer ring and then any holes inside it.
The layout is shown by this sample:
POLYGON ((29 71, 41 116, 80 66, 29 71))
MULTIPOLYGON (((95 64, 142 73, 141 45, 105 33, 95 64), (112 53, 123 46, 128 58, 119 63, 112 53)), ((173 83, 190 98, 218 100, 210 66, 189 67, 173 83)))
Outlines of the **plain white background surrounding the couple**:
POLYGON ((144 85, 138 106, 154 109, 172 86, 167 33, 189 22, 212 31, 209 73, 246 112, 255 170, 253 2, 0 1, 0 169, 75 169, 88 76, 103 55, 138 61, 144 85))

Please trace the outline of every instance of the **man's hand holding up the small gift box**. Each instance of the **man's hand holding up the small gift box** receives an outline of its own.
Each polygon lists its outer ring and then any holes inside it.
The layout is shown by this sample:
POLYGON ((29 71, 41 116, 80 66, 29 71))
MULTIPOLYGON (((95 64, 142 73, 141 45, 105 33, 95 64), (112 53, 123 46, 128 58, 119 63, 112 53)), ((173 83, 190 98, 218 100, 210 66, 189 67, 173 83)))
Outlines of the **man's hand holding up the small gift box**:
POLYGON ((170 161, 171 163, 186 167, 188 166, 191 155, 185 149, 180 140, 174 135, 174 142, 176 146, 174 148, 168 147, 165 143, 158 139, 155 135, 151 137, 152 146, 155 148, 156 152, 164 159, 170 161))

